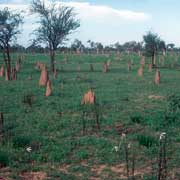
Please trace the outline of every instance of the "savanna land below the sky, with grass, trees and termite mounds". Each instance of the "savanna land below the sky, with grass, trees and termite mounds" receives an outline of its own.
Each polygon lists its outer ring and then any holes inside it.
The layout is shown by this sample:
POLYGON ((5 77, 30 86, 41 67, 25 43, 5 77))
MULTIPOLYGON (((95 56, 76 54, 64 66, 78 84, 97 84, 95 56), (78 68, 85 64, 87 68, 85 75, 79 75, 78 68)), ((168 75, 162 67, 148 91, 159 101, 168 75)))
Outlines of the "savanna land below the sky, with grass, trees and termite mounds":
POLYGON ((11 43, 23 16, 0 11, 0 179, 180 179, 180 50, 152 32, 62 47, 74 9, 30 7, 27 48, 11 43))

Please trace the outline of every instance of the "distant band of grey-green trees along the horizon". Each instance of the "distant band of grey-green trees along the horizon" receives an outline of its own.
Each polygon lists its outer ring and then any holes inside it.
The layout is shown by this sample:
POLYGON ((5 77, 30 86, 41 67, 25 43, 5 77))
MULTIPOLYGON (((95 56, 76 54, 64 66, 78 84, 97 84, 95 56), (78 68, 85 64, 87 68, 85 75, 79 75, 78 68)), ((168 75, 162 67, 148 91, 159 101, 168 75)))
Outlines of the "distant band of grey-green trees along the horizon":
MULTIPOLYGON (((48 47, 42 47, 40 45, 30 45, 24 47, 22 45, 16 44, 12 45, 10 48, 12 53, 48 53, 48 47)), ((126 42, 122 45, 115 43, 109 46, 103 46, 101 43, 94 43, 90 41, 90 45, 87 47, 82 44, 81 41, 75 40, 71 46, 59 47, 56 52, 59 53, 71 53, 71 54, 107 54, 107 53, 140 53, 145 51, 145 47, 142 42, 126 42)), ((175 47, 174 44, 167 44, 165 51, 180 52, 180 48, 175 47)), ((0 52, 3 52, 3 49, 0 49, 0 52)))

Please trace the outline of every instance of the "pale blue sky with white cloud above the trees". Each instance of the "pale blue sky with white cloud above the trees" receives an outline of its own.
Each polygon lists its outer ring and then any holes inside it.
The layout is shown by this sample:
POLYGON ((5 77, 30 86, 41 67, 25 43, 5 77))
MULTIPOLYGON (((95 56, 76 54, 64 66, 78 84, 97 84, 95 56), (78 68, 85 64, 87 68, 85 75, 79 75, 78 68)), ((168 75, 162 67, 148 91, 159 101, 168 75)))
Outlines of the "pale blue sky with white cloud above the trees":
MULTIPOLYGON (((180 0, 44 0, 74 8, 81 26, 69 36, 85 45, 90 39, 110 45, 116 42, 142 41, 148 31, 157 33, 166 43, 180 46, 180 0)), ((38 27, 37 16, 29 13, 30 0, 0 0, 0 9, 24 10, 24 24, 18 43, 30 45, 32 31, 38 27)))

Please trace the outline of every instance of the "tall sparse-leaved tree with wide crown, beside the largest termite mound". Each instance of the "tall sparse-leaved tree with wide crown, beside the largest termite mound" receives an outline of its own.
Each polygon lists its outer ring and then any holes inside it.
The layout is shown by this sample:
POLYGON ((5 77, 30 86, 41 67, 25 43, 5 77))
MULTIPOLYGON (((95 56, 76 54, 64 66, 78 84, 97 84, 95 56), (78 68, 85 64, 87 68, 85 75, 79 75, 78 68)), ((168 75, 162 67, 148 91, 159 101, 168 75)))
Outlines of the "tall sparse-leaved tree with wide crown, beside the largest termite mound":
POLYGON ((62 5, 45 6, 44 1, 33 0, 31 12, 40 16, 40 27, 35 30, 36 41, 47 44, 50 51, 51 71, 55 70, 55 51, 80 26, 74 9, 62 5))

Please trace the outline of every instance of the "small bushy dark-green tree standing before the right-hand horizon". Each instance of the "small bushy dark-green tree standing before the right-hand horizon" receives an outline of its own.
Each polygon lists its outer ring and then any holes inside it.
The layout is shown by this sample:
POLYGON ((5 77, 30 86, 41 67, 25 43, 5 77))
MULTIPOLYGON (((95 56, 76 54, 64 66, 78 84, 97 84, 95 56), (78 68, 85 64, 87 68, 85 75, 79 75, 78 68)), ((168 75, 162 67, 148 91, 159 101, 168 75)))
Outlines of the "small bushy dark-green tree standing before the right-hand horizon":
POLYGON ((145 42, 145 54, 148 57, 151 57, 152 66, 155 67, 155 57, 160 50, 161 40, 157 34, 148 32, 147 35, 143 36, 145 42))

